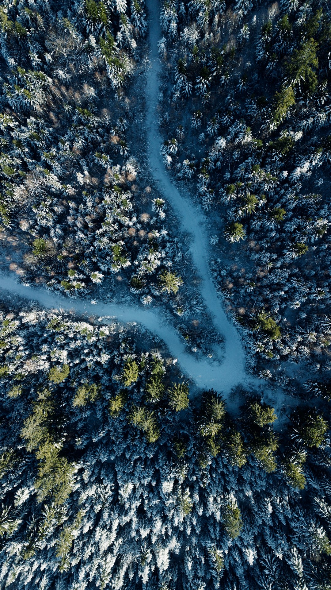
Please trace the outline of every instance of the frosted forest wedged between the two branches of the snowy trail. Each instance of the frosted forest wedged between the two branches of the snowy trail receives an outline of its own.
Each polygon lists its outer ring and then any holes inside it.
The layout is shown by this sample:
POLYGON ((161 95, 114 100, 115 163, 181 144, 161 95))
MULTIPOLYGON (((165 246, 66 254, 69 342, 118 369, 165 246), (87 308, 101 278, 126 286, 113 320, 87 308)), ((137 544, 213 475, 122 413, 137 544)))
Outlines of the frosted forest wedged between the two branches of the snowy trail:
POLYGON ((127 89, 147 28, 143 3, 86 0, 59 12, 56 3, 7 4, 0 216, 27 245, 25 273, 71 296, 120 273, 148 304, 163 290, 163 267, 166 291, 176 293, 181 279, 169 267, 180 249, 165 227, 166 203, 140 179, 126 137, 137 114, 127 89))

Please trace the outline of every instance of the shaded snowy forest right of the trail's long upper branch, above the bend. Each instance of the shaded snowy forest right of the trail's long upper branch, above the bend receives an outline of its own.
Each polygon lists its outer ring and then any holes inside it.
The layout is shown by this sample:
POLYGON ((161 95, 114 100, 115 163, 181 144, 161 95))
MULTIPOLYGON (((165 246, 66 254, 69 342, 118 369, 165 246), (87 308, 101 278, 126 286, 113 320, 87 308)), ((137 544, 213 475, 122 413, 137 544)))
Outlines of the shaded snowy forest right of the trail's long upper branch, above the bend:
POLYGON ((330 6, 170 0, 161 27, 164 159, 215 224, 220 290, 260 367, 329 371, 330 6))

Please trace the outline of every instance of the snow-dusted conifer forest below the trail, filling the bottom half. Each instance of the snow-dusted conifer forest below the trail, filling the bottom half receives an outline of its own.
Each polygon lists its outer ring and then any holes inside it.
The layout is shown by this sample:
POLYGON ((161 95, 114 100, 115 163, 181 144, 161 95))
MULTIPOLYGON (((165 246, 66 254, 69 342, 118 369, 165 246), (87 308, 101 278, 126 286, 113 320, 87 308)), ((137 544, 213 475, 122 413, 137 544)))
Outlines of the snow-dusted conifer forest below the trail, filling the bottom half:
POLYGON ((134 340, 134 326, 2 306, 2 581, 326 588, 323 416, 293 415, 275 453, 273 408, 252 398, 235 424, 214 391, 189 404, 148 335, 150 352, 134 340))

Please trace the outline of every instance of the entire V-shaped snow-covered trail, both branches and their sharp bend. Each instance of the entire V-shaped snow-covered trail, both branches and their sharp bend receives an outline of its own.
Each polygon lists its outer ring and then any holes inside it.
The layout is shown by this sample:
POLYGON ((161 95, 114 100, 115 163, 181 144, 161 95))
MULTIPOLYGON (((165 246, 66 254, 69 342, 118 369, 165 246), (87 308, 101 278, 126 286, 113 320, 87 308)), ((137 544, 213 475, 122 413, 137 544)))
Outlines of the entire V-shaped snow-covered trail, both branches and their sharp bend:
MULTIPOLYGON (((177 358, 183 371, 190 376, 198 388, 213 387, 227 395, 239 383, 257 385, 263 382, 247 375, 245 371, 245 354, 239 335, 233 323, 227 318, 214 288, 208 267, 208 232, 204 215, 201 210, 197 211, 190 201, 180 195, 164 169, 163 159, 160 155, 162 139, 158 133, 157 122, 158 74, 161 71, 157 50, 157 44, 161 38, 160 5, 158 0, 147 0, 146 4, 150 15, 149 40, 151 47, 151 66, 147 71, 146 84, 146 127, 151 172, 158 183, 160 191, 170 202, 174 211, 177 212, 183 230, 192 234, 190 250, 193 262, 201 277, 201 296, 213 318, 214 325, 225 339, 225 355, 222 362, 201 358, 198 354, 196 356, 189 355, 174 327, 166 322, 161 313, 155 309, 147 310, 118 303, 98 303, 94 305, 84 300, 70 300, 67 297, 51 294, 36 287, 27 287, 16 283, 14 277, 8 277, 4 274, 0 274, 0 289, 10 291, 25 299, 38 301, 39 304, 50 309, 74 309, 77 313, 102 316, 104 322, 107 322, 107 318, 115 317, 120 322, 141 323, 166 343, 171 355, 177 358)), ((221 358, 223 346, 219 346, 217 352, 221 358)))

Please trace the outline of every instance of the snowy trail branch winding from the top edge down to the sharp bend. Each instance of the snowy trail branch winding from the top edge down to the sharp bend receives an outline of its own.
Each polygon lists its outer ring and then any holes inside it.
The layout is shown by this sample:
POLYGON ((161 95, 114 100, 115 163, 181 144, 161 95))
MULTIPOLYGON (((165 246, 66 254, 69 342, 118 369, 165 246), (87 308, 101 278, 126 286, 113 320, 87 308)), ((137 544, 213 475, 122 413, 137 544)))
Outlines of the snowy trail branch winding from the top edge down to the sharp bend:
MULTIPOLYGON (((163 158, 160 153, 162 138, 158 132, 158 94, 159 74, 161 61, 158 55, 158 42, 161 40, 160 2, 159 0, 146 0, 149 17, 149 43, 150 43, 150 67, 147 70, 146 104, 147 104, 147 137, 148 156, 151 173, 157 181, 161 193, 171 207, 177 213, 183 230, 188 231, 193 238, 190 252, 194 265, 201 278, 200 293, 210 313, 214 326, 224 336, 225 355, 222 359, 221 372, 226 382, 233 385, 245 380, 246 355, 239 334, 233 323, 224 312, 221 300, 217 296, 208 264, 208 231, 206 218, 203 212, 197 209, 189 199, 180 194, 176 186, 171 182, 170 176, 164 168, 163 158)), ((223 346, 219 347, 219 357, 223 353, 223 346)), ((218 369, 220 370, 220 369, 218 369)))

